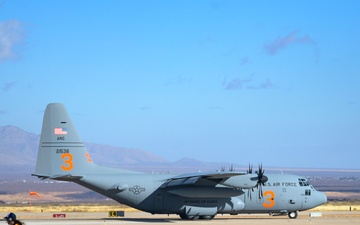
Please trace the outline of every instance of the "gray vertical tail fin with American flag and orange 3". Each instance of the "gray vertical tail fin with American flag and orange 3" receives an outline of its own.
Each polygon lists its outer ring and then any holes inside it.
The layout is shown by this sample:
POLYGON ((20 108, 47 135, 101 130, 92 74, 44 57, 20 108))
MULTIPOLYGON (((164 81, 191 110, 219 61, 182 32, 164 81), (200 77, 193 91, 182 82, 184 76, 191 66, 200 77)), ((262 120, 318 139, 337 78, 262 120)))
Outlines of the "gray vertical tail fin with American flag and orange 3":
POLYGON ((64 105, 49 104, 44 114, 33 175, 43 178, 81 176, 95 167, 64 105))

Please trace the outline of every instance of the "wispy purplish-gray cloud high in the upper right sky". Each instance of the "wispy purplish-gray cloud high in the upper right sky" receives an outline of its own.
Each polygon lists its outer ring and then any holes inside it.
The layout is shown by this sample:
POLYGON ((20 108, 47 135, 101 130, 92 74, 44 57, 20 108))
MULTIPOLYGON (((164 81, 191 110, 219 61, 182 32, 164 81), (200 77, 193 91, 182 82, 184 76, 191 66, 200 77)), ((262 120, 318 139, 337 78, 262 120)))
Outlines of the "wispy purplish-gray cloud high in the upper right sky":
POLYGON ((271 41, 270 43, 265 44, 264 49, 267 54, 275 55, 278 51, 288 47, 292 44, 310 44, 315 45, 315 41, 312 40, 309 36, 304 35, 299 36, 298 31, 293 31, 290 34, 284 37, 278 37, 277 39, 271 41))

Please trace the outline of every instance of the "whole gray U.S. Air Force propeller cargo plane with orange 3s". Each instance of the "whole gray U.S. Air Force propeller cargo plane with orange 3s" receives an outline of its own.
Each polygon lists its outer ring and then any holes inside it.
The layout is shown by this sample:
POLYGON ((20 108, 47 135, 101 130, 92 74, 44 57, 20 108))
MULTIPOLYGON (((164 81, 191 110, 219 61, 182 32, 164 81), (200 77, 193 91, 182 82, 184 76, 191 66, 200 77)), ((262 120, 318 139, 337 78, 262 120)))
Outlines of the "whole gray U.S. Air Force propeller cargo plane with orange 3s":
POLYGON ((35 173, 71 181, 152 214, 213 219, 217 214, 269 213, 296 218, 326 203, 307 179, 289 174, 220 170, 193 174, 148 174, 96 165, 64 107, 51 103, 44 114, 35 173))

